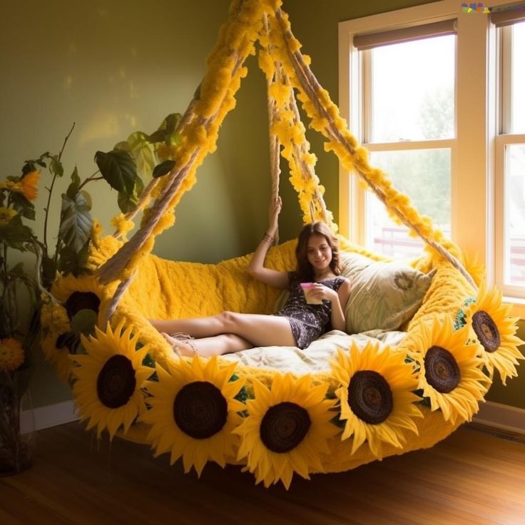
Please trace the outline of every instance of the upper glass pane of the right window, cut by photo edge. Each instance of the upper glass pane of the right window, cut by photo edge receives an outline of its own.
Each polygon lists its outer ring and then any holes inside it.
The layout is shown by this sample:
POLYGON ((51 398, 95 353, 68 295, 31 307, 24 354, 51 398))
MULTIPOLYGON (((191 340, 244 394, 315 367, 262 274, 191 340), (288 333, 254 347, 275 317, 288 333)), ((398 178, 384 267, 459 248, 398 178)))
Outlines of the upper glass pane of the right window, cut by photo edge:
POLYGON ((525 133, 525 22, 512 26, 512 126, 511 133, 525 133))

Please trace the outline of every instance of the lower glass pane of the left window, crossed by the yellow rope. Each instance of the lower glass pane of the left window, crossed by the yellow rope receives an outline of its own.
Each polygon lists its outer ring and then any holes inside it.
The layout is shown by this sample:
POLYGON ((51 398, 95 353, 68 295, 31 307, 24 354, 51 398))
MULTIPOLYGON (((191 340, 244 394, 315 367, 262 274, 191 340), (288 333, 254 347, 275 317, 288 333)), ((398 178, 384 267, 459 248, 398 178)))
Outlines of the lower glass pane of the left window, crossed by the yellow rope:
MULTIPOLYGON (((371 154, 371 163, 388 173, 395 188, 412 199, 419 213, 450 235, 450 150, 387 151, 371 154)), ((367 192, 367 248, 393 258, 421 254, 423 242, 389 218, 376 196, 367 192)))

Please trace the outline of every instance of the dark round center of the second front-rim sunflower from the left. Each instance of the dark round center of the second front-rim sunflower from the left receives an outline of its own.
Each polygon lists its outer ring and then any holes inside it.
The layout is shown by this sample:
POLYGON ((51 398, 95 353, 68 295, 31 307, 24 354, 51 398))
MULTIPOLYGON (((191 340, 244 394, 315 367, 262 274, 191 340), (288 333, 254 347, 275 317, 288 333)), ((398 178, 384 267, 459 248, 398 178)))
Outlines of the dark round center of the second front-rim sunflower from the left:
POLYGON ((214 384, 194 381, 185 384, 175 396, 173 419, 188 436, 208 439, 224 427, 228 402, 214 384))

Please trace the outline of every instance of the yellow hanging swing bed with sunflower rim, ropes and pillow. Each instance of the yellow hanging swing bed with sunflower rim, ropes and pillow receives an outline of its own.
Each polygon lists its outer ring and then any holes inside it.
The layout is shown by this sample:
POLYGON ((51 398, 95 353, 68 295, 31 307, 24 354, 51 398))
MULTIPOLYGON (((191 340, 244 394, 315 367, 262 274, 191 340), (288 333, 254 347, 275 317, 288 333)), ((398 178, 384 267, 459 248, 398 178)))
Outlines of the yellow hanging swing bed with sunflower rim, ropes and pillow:
MULTIPOLYGON (((107 431, 111 439, 149 444, 155 456, 182 459, 185 472, 193 467, 200 475, 207 462, 238 464, 257 483, 282 481, 288 488, 293 474, 341 472, 432 447, 472 419, 494 371, 504 383, 516 375, 522 341, 501 293, 488 290, 481 269, 369 165, 366 149, 309 64, 279 0, 233 0, 203 82, 178 124, 181 139, 166 153, 169 173, 153 179, 116 235, 94 229, 91 274, 56 279, 42 309, 44 352, 71 382, 81 420, 99 437, 107 431), (343 275, 352 280, 347 333, 329 332, 304 351, 269 347, 178 357, 148 318, 272 313, 282 300, 248 277, 250 255, 203 265, 151 254, 156 236, 173 225, 175 206, 195 183, 198 166, 215 150, 256 46, 267 78, 274 193, 282 156, 304 222, 322 220, 337 232, 315 175, 297 91, 310 126, 326 139, 325 150, 426 247, 403 266, 338 235, 343 275), (140 228, 123 242, 138 211, 140 228), (84 353, 71 355, 64 335, 81 308, 96 312, 97 327, 82 337, 84 353)), ((270 248, 266 264, 292 270, 295 245, 270 248)))

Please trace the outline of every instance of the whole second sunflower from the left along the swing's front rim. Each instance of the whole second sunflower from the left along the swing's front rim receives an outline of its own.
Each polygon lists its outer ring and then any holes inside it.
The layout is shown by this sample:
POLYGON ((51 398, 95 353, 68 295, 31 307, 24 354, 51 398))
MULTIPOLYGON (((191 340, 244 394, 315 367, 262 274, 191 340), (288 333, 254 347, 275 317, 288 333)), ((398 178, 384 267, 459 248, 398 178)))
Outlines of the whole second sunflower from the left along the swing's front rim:
POLYGON ((198 476, 209 460, 225 467, 235 457, 240 424, 238 412, 245 404, 235 399, 244 379, 233 379, 235 363, 220 365, 218 358, 169 360, 156 365, 158 382, 148 381, 150 409, 141 421, 151 424, 148 441, 155 457, 170 452, 170 464, 182 457, 184 471, 198 476))

